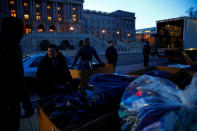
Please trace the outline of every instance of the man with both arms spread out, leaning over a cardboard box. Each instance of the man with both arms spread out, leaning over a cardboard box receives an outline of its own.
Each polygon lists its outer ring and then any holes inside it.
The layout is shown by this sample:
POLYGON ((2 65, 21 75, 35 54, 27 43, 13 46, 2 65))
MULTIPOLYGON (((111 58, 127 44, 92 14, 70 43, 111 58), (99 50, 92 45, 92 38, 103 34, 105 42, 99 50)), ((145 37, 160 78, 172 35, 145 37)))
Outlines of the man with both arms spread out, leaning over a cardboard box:
POLYGON ((93 55, 95 56, 95 58, 98 60, 100 64, 103 64, 103 62, 100 60, 99 56, 97 55, 97 52, 94 49, 94 47, 90 45, 89 38, 86 38, 84 45, 77 51, 72 68, 74 67, 74 65, 76 64, 77 60, 80 57, 81 59, 78 69, 80 70, 91 69, 93 55))

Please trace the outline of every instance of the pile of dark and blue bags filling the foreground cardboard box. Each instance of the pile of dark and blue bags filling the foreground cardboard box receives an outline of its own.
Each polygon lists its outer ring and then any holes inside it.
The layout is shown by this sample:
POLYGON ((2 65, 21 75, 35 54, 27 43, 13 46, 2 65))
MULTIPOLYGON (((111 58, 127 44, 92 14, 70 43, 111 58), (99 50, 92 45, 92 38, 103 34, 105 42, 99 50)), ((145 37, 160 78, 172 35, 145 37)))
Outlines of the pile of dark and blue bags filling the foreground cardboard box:
POLYGON ((119 74, 96 74, 86 88, 40 100, 39 106, 58 128, 66 128, 118 110, 122 93, 134 79, 119 74))

